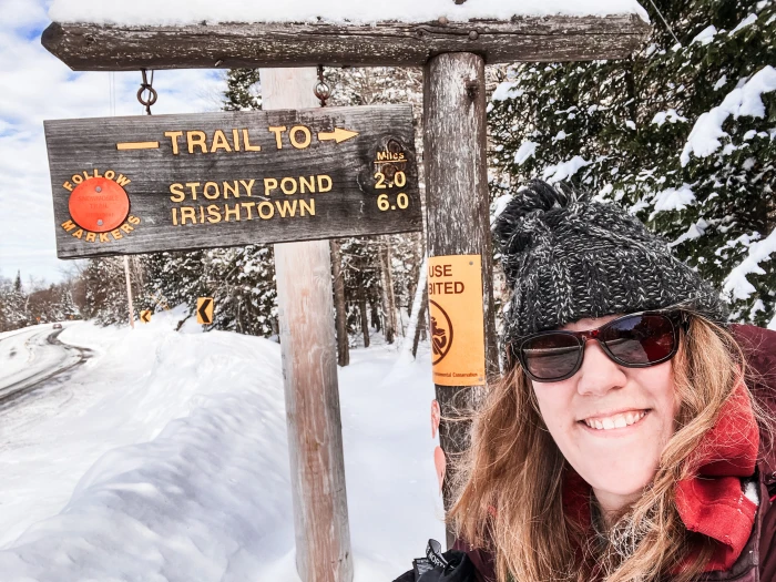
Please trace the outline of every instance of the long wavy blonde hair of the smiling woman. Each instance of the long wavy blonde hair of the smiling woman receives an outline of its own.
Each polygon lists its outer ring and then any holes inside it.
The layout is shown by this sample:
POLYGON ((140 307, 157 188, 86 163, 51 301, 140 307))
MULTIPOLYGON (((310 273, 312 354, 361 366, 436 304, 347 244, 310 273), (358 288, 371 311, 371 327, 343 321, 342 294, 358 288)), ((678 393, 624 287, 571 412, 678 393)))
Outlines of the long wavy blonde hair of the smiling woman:
MULTIPOLYGON (((563 511, 570 468, 520 366, 491 388, 473 418, 471 447, 457 462, 457 501, 448 521, 460 538, 494 553, 498 582, 510 576, 520 582, 653 582, 667 574, 690 582, 698 576, 713 547, 684 527, 674 488, 692 472, 691 453, 742 381, 744 359, 727 330, 692 316, 672 366, 680 400, 675 432, 651 486, 603 543, 563 511)), ((753 408, 764 418, 754 402, 753 408)))

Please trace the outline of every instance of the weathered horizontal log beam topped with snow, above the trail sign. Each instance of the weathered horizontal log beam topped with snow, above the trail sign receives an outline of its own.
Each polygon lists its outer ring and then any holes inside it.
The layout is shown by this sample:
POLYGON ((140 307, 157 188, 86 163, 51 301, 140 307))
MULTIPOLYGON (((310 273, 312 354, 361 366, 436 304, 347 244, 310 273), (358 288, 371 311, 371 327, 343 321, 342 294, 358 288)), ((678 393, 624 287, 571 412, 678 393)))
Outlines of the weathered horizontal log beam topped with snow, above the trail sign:
POLYGON ((238 67, 422 65, 445 52, 472 52, 487 63, 620 59, 645 40, 635 14, 514 17, 425 23, 228 23, 118 27, 52 23, 42 35, 75 71, 231 69, 238 67))

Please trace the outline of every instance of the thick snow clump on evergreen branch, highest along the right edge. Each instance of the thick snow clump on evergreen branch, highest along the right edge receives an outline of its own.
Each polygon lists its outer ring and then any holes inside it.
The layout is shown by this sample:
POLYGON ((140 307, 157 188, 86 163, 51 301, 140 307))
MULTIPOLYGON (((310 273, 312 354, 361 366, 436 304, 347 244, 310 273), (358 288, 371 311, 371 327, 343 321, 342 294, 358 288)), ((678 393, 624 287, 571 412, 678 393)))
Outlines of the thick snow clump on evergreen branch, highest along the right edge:
POLYGON ((776 91, 776 69, 767 65, 731 91, 721 105, 703 113, 687 137, 681 156, 682 166, 690 163, 690 154, 707 157, 721 147, 719 140, 727 135, 722 125, 731 115, 736 119, 742 115, 764 118, 765 105, 760 95, 770 91, 776 91))

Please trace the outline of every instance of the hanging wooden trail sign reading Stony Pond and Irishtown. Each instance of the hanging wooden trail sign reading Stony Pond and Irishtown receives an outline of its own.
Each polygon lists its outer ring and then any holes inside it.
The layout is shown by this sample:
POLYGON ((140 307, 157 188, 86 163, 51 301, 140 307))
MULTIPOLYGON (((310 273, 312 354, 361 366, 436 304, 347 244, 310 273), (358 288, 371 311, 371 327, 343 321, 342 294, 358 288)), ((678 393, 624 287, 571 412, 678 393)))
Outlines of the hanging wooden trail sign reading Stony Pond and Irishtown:
POLYGON ((60 258, 422 228, 409 105, 45 122, 60 258))

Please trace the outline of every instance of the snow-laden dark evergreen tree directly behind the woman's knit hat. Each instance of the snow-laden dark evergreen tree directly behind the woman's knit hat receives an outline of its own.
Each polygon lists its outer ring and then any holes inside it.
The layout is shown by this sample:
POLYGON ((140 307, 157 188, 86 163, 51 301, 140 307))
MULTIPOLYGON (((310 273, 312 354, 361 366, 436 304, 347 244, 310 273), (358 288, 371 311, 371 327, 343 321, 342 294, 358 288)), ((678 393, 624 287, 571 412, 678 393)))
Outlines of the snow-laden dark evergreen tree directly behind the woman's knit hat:
POLYGON ((489 108, 492 194, 532 177, 593 190, 724 288, 732 319, 767 325, 776 321, 776 3, 655 4, 671 30, 645 4, 651 39, 631 59, 502 71, 489 108))

